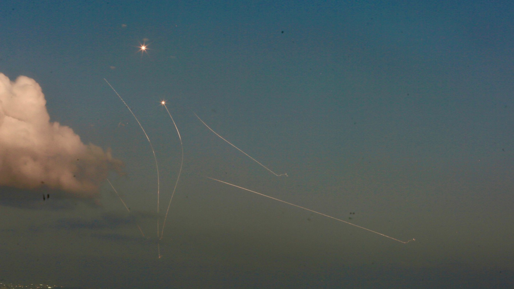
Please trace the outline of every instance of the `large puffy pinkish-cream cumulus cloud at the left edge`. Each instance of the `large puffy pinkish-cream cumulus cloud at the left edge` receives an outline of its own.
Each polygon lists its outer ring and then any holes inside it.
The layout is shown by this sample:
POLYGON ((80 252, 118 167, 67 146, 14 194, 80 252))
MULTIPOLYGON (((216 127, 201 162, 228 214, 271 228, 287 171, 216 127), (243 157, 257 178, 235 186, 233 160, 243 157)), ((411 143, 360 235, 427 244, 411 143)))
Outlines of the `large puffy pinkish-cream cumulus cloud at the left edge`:
POLYGON ((98 185, 122 162, 84 144, 68 126, 50 122, 41 87, 0 73, 0 186, 47 187, 75 196, 98 194, 98 185))

